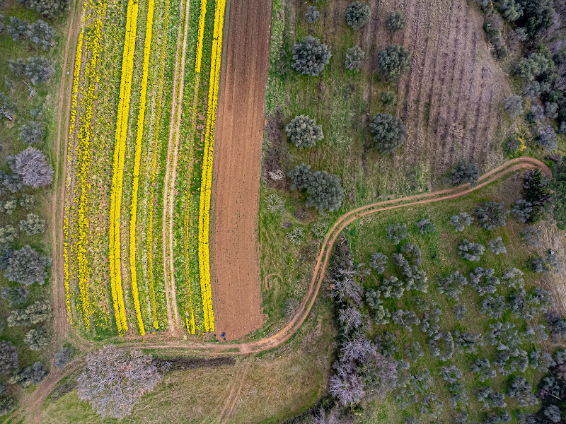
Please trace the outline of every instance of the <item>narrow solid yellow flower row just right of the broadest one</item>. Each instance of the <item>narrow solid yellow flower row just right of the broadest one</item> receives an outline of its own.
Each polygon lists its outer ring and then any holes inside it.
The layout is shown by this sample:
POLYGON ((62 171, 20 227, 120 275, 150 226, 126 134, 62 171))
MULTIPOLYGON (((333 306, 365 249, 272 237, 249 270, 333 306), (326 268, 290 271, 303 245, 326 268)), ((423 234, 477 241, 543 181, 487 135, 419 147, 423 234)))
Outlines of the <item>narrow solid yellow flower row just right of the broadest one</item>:
POLYGON ((144 64, 141 74, 141 90, 139 91, 139 112, 137 117, 136 151, 134 158, 134 180, 132 182, 132 204, 130 204, 129 218, 129 270, 132 275, 132 296, 136 310, 139 334, 144 336, 144 320, 141 317, 139 305, 139 291, 137 287, 137 261, 136 261, 136 221, 137 221, 137 194, 139 190, 139 168, 141 165, 141 141, 144 138, 144 118, 146 113, 147 80, 149 77, 149 54, 151 53, 151 31, 154 25, 155 1, 149 0, 147 8, 146 37, 144 40, 144 64))

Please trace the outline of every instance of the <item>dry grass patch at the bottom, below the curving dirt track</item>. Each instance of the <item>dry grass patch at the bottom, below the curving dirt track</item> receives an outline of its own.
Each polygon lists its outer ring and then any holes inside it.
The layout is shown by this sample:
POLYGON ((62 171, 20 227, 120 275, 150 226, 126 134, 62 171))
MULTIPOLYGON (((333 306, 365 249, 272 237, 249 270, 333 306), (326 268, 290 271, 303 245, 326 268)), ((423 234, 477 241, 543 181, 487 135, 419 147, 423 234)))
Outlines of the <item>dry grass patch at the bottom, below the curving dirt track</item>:
MULTIPOLYGON (((282 348, 250 358, 236 358, 233 365, 200 367, 166 373, 156 391, 144 396, 123 423, 217 422, 236 375, 247 367, 241 394, 229 423, 278 423, 308 409, 323 394, 334 337, 328 302, 318 301, 316 317, 282 348)), ((148 351, 156 358, 177 357, 179 351, 148 351)), ((183 354, 186 354, 183 352, 183 354)), ((198 358, 198 357, 196 357, 198 358)), ((206 359, 204 359, 206 360, 206 359)), ((76 375, 63 379, 42 411, 42 423, 117 423, 102 419, 79 401, 74 391, 76 375)))

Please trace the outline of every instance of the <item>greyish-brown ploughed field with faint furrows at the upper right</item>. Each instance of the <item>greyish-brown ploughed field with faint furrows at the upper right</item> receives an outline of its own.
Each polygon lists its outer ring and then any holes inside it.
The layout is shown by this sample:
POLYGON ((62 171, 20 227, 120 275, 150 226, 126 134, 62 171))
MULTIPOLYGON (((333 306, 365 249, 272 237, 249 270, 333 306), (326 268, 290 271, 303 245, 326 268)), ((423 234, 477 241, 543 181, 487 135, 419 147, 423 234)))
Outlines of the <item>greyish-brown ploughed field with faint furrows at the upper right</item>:
MULTIPOLYGON (((362 35, 369 54, 366 69, 377 66, 377 54, 391 43, 404 45, 412 66, 398 83, 397 114, 409 137, 395 163, 416 165, 427 158, 430 182, 458 160, 473 160, 485 169, 500 163, 497 122, 499 104, 510 93, 483 33, 483 16, 466 0, 370 2, 372 17, 362 35), (391 35, 388 13, 405 13, 406 30, 391 35)), ((369 87, 364 100, 378 95, 369 87)))

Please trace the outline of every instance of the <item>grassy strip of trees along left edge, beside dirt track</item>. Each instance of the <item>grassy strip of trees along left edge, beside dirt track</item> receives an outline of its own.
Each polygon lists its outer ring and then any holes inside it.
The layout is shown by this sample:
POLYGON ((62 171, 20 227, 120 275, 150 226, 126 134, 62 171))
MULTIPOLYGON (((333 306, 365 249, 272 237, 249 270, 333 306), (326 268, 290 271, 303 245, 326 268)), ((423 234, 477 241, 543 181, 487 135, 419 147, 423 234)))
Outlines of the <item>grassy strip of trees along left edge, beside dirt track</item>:
POLYGON ((37 194, 53 180, 52 164, 42 151, 47 139, 42 105, 48 91, 45 84, 52 81, 56 64, 53 47, 57 25, 53 19, 69 6, 68 0, 18 2, 37 11, 41 19, 4 19, 0 14, 1 37, 8 43, 4 48, 23 52, 12 56, 13 60, 4 57, 7 72, 0 92, 0 120, 11 121, 4 126, 8 131, 4 131, 4 138, 11 140, 7 149, 11 156, 0 171, 0 214, 4 216, 0 228, 0 272, 7 280, 0 287, 5 312, 0 334, 5 324, 24 329, 23 336, 13 341, 16 346, 0 341, 0 375, 4 383, 0 384, 0 416, 13 411, 17 402, 14 396, 21 392, 11 385, 29 387, 41 382, 49 372, 40 362, 26 363, 29 351, 25 354, 22 350, 45 350, 51 343, 47 325, 51 304, 49 300, 32 303, 29 298, 45 298, 37 286, 45 284, 50 275, 51 259, 36 249, 42 245, 47 229, 43 213, 37 210, 37 194))

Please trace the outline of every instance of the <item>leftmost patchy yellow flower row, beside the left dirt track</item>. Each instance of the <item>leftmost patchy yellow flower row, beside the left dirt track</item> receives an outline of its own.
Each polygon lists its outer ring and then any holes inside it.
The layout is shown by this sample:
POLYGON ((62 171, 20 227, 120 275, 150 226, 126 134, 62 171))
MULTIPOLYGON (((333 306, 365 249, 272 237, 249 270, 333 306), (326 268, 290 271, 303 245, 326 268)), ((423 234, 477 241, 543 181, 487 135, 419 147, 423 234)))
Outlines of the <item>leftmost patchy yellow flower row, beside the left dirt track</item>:
MULTIPOLYGON (((77 97, 79 93, 79 78, 81 76, 81 64, 82 64, 82 54, 83 54, 83 37, 84 28, 81 28, 79 33, 79 39, 76 42, 76 55, 75 55, 75 66, 73 73, 73 87, 71 88, 71 123, 69 124, 69 143, 67 144, 67 158, 71 158, 71 136, 76 128, 76 113, 77 113, 77 97)), ((67 187, 70 185, 71 175, 67 174, 67 187)), ((67 197, 65 199, 64 206, 64 220, 63 220, 63 259, 64 259, 64 285, 65 285, 65 305, 67 306, 67 317, 69 318, 69 323, 73 325, 73 315, 71 313, 71 287, 69 285, 69 204, 70 200, 67 197)))

